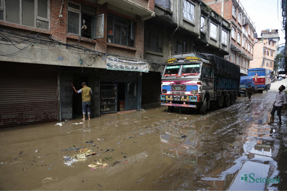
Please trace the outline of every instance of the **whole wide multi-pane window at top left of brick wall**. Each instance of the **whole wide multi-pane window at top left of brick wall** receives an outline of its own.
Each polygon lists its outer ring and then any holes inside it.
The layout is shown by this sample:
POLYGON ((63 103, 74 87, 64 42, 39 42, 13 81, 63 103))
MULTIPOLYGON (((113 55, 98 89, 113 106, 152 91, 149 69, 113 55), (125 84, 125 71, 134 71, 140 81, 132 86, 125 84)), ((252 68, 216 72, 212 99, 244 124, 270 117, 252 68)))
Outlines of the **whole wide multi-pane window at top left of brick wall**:
POLYGON ((0 20, 49 29, 50 0, 0 0, 0 20))

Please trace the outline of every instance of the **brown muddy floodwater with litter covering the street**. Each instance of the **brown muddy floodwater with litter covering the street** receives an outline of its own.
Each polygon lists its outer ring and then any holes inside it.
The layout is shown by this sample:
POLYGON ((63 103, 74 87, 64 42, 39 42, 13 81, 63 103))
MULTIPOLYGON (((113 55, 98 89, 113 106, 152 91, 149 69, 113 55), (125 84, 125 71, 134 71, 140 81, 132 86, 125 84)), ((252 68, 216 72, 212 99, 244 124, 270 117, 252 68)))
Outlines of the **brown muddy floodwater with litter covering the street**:
POLYGON ((0 189, 286 190, 287 110, 267 124, 281 84, 206 115, 159 107, 0 129, 0 189))

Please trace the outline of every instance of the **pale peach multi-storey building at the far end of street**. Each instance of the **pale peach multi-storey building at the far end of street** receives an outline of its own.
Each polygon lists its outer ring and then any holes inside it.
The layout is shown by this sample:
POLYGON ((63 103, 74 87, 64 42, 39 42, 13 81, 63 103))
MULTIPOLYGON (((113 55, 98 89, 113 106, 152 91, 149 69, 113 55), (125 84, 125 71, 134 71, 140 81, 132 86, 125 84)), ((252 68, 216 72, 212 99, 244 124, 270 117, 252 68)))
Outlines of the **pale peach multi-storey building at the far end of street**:
POLYGON ((250 62, 250 68, 267 68, 274 75, 274 58, 278 52, 280 39, 278 29, 272 29, 272 31, 269 31, 269 29, 262 30, 261 36, 257 37, 257 33, 255 33, 254 60, 250 62))

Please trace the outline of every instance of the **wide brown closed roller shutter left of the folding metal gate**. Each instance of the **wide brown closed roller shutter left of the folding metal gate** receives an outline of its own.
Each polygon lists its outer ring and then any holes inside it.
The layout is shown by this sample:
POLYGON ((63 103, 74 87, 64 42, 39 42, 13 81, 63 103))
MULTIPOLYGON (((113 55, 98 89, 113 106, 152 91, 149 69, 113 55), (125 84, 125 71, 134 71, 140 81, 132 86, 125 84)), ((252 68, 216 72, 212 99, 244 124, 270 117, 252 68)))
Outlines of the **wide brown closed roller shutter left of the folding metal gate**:
POLYGON ((0 127, 57 120, 57 72, 1 71, 0 127))

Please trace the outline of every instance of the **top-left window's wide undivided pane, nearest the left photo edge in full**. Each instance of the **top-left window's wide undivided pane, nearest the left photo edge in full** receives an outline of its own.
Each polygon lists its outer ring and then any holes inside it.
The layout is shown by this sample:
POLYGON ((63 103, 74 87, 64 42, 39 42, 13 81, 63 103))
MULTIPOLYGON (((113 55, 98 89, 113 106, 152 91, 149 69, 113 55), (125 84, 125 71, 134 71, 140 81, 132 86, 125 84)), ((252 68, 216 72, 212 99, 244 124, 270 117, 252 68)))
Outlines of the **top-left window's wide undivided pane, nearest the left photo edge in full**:
POLYGON ((6 21, 20 24, 20 5, 19 0, 5 1, 6 21))

